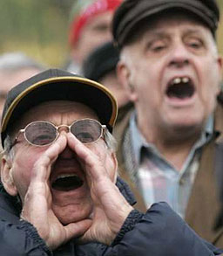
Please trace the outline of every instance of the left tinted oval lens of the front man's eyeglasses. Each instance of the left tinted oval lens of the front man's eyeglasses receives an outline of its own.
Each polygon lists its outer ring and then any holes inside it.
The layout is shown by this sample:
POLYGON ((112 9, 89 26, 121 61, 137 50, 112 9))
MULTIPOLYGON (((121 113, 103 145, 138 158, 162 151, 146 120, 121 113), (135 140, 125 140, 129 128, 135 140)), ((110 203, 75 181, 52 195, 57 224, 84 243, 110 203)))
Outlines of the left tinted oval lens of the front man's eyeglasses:
POLYGON ((25 128, 24 135, 31 144, 37 146, 49 145, 57 137, 57 128, 50 122, 34 121, 25 128))

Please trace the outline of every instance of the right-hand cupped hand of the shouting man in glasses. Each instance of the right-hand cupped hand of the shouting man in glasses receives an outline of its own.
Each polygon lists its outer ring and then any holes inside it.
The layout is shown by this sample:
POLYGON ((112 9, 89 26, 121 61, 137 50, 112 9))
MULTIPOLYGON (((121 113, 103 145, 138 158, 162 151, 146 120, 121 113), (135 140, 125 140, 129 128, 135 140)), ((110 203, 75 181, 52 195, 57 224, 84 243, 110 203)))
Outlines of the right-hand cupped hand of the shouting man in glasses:
POLYGON ((67 134, 67 138, 70 148, 75 151, 85 172, 94 203, 91 227, 81 240, 83 242, 97 240, 110 245, 133 209, 115 185, 116 158, 112 158, 115 156, 111 156, 111 152, 105 149, 105 144, 99 147, 98 142, 95 143, 94 147, 98 149, 96 154, 79 142, 75 136, 67 134), (111 164, 106 166, 105 162, 111 164))

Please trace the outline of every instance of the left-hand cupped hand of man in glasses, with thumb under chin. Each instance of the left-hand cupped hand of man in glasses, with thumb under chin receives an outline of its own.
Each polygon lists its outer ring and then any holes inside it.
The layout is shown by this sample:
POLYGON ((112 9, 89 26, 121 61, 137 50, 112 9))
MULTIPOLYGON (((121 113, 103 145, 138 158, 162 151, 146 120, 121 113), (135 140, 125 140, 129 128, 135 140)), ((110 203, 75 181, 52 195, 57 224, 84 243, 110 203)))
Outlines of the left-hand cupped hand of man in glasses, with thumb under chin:
POLYGON ((21 218, 37 228, 40 237, 52 250, 71 238, 79 237, 90 227, 91 220, 62 225, 51 209, 51 190, 49 176, 51 165, 67 145, 66 135, 60 135, 49 149, 35 163, 31 170, 30 186, 24 197, 21 218))

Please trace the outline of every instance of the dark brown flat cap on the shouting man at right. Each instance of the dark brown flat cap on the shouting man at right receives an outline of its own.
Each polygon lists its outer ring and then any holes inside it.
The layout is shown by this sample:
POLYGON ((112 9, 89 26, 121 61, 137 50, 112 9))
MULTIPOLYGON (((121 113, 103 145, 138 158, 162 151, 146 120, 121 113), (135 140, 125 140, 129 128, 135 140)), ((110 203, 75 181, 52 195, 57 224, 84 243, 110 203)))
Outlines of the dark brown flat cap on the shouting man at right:
POLYGON ((213 35, 218 28, 220 10, 216 0, 125 0, 116 10, 112 22, 115 44, 121 48, 142 20, 165 10, 186 10, 209 27, 213 35))

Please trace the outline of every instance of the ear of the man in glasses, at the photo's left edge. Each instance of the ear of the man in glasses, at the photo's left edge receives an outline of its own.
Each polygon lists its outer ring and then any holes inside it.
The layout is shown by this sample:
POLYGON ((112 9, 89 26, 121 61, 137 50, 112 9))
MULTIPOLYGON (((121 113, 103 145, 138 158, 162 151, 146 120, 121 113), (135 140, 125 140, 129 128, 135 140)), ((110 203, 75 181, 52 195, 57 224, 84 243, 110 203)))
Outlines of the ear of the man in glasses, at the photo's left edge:
POLYGON ((17 187, 13 182, 11 163, 5 156, 1 159, 1 180, 4 189, 10 194, 10 196, 16 196, 17 187))

